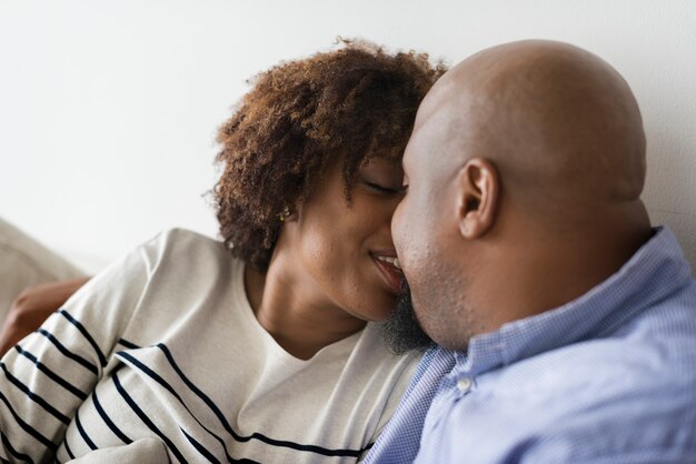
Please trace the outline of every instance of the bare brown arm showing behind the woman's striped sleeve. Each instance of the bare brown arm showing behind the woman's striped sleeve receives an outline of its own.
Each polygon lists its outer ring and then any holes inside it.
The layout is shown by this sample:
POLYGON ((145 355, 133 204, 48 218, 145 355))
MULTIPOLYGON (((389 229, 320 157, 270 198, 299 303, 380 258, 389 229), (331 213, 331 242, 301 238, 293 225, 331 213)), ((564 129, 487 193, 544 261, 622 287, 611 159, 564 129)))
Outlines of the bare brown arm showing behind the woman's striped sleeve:
POLYGON ((0 331, 0 356, 20 340, 29 335, 58 310, 90 278, 52 282, 26 289, 12 302, 2 331, 0 331))

